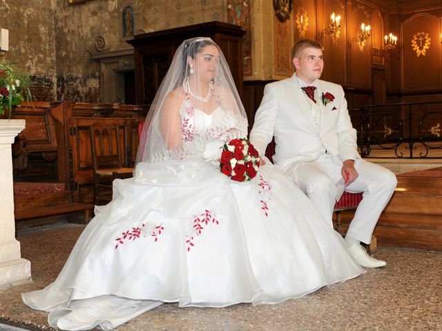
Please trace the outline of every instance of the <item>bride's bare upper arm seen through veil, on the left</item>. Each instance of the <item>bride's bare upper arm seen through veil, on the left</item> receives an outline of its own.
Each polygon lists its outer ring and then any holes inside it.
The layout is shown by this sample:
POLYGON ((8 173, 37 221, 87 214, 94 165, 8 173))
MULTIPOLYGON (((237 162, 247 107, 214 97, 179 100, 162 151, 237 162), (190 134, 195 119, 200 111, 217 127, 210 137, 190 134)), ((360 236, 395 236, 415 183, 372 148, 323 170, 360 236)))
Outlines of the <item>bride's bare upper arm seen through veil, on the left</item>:
POLYGON ((162 106, 160 127, 167 149, 171 150, 182 144, 180 106, 183 97, 176 91, 171 92, 162 106))

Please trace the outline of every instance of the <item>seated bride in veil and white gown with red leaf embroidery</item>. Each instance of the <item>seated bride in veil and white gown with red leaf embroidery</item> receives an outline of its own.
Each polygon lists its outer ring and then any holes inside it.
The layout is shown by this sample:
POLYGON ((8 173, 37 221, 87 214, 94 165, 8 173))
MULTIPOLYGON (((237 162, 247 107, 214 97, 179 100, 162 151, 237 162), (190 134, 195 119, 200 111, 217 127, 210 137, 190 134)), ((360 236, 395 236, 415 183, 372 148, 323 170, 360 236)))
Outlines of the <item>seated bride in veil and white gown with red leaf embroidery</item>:
POLYGON ((220 172, 247 135, 227 62, 184 41, 146 118, 131 179, 97 206, 57 279, 22 294, 64 330, 115 328, 161 305, 279 303, 365 272, 309 199, 267 162, 247 183, 220 172))

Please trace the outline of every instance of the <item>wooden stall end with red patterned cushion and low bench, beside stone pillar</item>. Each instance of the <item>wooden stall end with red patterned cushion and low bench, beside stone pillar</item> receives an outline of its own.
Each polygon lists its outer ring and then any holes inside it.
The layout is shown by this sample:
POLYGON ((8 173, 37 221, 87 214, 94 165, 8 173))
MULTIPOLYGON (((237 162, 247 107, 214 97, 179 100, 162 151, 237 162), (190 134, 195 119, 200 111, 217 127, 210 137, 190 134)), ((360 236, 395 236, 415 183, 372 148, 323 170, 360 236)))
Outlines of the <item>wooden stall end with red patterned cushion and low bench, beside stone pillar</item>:
POLYGON ((57 104, 35 101, 13 115, 26 128, 12 146, 16 229, 57 221, 86 223, 94 205, 75 201, 68 185, 64 145, 50 109, 57 104))

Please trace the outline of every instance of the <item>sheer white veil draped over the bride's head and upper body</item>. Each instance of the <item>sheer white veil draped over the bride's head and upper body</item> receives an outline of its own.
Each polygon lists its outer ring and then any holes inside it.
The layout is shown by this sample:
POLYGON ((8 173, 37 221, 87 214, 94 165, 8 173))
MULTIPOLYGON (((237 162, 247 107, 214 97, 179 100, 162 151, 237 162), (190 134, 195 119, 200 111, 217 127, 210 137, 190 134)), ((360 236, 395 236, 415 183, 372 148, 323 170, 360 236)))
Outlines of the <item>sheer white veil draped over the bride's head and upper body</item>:
POLYGON ((184 41, 147 114, 136 163, 199 156, 209 139, 246 136, 247 116, 220 48, 206 37, 184 41), (209 126, 209 118, 220 125, 209 126))

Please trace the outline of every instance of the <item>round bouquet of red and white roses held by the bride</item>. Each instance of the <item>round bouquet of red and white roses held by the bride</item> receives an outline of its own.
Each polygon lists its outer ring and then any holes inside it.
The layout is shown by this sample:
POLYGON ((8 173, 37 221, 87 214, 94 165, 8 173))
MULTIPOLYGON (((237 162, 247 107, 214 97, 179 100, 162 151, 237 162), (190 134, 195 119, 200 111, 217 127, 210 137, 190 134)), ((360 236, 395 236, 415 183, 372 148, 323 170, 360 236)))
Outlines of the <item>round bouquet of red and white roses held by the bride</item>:
POLYGON ((258 172, 260 155, 248 139, 232 139, 224 143, 220 168, 233 181, 249 181, 258 172))

